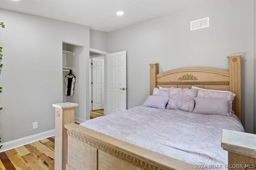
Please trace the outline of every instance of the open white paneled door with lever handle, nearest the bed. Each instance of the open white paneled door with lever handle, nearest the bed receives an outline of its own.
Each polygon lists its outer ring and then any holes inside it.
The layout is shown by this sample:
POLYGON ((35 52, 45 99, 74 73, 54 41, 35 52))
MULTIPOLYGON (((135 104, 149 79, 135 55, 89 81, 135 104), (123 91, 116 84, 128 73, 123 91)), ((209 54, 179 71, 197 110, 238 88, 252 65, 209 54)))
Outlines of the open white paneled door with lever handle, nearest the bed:
POLYGON ((104 114, 126 110, 126 51, 107 54, 104 114))

